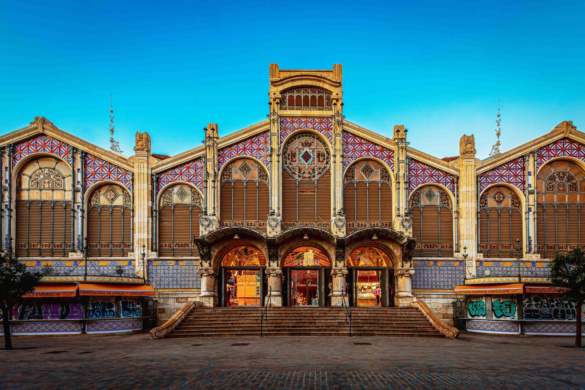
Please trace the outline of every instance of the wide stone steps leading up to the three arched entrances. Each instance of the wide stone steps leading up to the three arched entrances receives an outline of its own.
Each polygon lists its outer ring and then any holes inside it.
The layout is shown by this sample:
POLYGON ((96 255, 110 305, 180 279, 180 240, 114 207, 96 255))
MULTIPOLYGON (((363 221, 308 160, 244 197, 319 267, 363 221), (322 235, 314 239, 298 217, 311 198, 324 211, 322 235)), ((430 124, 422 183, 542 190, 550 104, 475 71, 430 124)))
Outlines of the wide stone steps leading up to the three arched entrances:
MULTIPOLYGON (((350 308, 352 336, 444 337, 417 308, 350 308)), ((257 306, 194 308, 166 337, 260 336, 257 306)), ((264 336, 349 336, 343 308, 268 308, 264 336)))

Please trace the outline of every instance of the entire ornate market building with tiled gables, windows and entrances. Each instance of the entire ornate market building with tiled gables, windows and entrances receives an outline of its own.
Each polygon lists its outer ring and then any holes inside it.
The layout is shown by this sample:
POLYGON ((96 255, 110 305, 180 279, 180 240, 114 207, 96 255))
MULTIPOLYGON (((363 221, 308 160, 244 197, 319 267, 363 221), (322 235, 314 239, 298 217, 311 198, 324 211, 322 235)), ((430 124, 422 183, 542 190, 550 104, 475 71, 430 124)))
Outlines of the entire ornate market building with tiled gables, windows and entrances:
MULTIPOLYGON (((418 299, 449 322, 456 287, 474 283, 505 299, 484 292, 481 317, 468 297, 467 328, 522 332, 519 294, 545 294, 550 257, 585 248, 585 134, 561 122, 483 161, 463 134, 459 156, 438 158, 411 147, 402 125, 385 137, 347 120, 340 64, 270 64, 269 76, 266 119, 223 137, 208 123, 202 146, 177 156, 153 154, 144 132, 125 157, 41 117, 0 137, 2 249, 46 274, 36 301, 13 310, 14 333, 137 329, 147 303, 132 296, 153 294, 159 324, 188 301, 267 296, 273 306, 418 299), (536 287, 493 287, 514 276, 536 287), (515 317, 486 317, 505 300, 515 317)), ((557 317, 534 333, 570 333, 574 318, 557 317)))

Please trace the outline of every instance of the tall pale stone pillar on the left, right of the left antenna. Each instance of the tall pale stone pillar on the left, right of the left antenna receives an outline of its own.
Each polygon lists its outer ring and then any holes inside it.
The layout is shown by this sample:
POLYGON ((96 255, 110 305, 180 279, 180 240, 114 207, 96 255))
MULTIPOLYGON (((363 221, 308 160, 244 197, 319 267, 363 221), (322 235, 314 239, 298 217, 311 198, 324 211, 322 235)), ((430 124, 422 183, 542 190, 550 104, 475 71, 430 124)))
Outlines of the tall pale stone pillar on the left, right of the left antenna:
POLYGON ((142 276, 144 267, 142 267, 140 250, 146 245, 145 261, 149 257, 157 257, 156 251, 153 251, 152 243, 152 206, 153 206, 153 188, 151 181, 150 166, 154 163, 154 158, 150 154, 150 135, 147 132, 136 132, 135 156, 130 157, 134 163, 134 258, 136 260, 136 273, 142 276))

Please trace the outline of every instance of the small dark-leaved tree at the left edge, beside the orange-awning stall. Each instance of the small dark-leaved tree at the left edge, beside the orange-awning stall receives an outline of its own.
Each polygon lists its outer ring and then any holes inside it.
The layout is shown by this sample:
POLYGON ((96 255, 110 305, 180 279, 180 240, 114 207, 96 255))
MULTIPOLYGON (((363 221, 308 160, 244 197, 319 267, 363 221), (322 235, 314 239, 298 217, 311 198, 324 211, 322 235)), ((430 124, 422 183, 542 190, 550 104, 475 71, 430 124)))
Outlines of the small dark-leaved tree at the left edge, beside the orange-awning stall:
POLYGON ((12 349, 9 323, 12 307, 23 295, 35 291, 35 287, 42 280, 41 272, 27 271, 26 265, 13 257, 11 250, 0 257, 0 309, 4 324, 4 344, 7 350, 12 349))

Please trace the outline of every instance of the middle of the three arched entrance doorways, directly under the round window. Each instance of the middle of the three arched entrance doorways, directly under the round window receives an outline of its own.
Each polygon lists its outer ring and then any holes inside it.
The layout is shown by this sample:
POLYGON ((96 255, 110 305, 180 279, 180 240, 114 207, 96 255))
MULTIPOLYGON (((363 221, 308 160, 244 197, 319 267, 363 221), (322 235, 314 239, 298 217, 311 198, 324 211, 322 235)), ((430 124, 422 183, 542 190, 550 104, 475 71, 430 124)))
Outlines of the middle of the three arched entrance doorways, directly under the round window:
POLYGON ((283 305, 330 306, 331 260, 315 246, 292 249, 283 263, 283 305))

